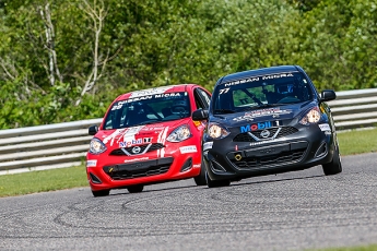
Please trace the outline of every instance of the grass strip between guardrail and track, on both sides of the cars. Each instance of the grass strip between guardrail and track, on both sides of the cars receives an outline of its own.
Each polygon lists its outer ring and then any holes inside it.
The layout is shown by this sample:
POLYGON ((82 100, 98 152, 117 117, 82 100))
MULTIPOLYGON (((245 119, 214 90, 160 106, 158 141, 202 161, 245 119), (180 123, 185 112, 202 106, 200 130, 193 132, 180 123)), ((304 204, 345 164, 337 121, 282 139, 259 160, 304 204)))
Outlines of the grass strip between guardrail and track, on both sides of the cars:
MULTIPOLYGON (((342 156, 377 152, 377 129, 338 133, 342 156)), ((0 198, 87 187, 85 167, 0 176, 0 198)))

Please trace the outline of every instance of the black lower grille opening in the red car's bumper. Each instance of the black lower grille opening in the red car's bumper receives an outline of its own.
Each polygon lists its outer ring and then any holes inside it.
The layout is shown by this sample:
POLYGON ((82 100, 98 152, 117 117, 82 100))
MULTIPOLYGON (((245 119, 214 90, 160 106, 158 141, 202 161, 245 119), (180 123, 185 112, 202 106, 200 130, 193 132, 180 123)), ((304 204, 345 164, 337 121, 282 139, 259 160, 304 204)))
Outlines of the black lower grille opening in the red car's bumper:
POLYGON ((136 179, 165 174, 170 168, 173 160, 172 157, 158 158, 132 164, 105 166, 103 170, 114 180, 136 179))

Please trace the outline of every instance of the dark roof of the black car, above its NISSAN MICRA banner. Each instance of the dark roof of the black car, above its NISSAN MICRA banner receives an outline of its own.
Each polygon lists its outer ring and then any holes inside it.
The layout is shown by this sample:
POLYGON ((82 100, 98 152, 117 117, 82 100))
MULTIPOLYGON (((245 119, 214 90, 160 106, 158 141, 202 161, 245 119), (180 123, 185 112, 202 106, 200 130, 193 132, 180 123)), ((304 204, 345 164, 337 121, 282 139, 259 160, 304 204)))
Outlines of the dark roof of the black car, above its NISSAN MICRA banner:
POLYGON ((250 76, 259 76, 259 75, 267 75, 267 74, 275 74, 275 73, 283 73, 283 72, 297 72, 303 71, 298 65, 279 65, 279 67, 269 67, 269 68, 261 68, 256 70, 248 70, 243 72, 236 72, 228 75, 225 75, 217 82, 217 84, 224 84, 235 80, 243 80, 250 76))

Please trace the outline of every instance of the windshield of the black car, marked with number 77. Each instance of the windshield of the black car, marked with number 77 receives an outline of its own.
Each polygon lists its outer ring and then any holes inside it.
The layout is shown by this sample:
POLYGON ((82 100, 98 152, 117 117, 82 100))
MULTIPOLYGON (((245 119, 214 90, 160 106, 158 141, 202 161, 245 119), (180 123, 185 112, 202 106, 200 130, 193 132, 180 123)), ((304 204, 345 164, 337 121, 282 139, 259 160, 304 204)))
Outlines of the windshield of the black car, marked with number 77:
POLYGON ((227 82, 213 96, 213 112, 229 113, 311 100, 313 88, 301 72, 290 72, 227 82))

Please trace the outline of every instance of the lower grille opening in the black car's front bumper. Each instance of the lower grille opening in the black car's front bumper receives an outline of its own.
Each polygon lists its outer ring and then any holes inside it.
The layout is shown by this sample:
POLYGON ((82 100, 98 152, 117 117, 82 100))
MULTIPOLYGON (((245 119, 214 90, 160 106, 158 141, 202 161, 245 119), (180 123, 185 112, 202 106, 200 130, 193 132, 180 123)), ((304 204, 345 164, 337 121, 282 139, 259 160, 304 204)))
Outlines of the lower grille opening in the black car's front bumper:
POLYGON ((231 162, 239 169, 250 170, 259 169, 268 166, 275 166, 285 163, 295 163, 298 162, 306 148, 294 150, 288 152, 282 152, 276 155, 269 155, 262 157, 245 157, 241 160, 232 159, 231 162))

